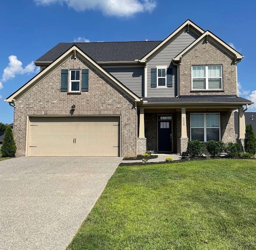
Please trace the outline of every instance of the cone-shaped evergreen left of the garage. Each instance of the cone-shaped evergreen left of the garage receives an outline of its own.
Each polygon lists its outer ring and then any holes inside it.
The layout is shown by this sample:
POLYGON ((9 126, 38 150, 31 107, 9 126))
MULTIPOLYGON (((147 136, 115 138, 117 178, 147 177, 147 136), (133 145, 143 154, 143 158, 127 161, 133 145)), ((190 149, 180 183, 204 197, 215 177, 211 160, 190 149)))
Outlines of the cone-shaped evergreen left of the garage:
POLYGON ((1 147, 2 157, 14 157, 16 153, 16 144, 13 139, 12 128, 7 127, 4 132, 4 141, 1 147))

